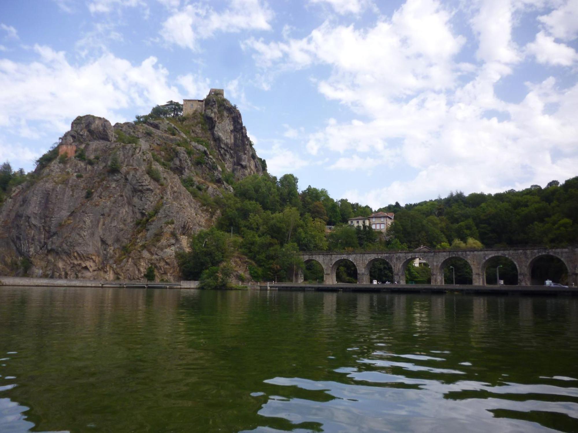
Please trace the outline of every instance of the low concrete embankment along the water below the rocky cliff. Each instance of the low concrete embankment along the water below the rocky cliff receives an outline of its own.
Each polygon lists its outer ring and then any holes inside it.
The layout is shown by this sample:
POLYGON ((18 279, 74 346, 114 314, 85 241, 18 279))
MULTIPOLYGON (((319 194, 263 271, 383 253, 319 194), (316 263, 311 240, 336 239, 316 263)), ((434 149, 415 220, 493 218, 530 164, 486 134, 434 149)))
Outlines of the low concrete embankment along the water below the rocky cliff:
POLYGON ((194 289, 198 281, 151 282, 146 280, 105 280, 105 279, 64 279, 64 278, 28 278, 0 277, 1 286, 27 287, 128 287, 128 288, 162 288, 194 289))

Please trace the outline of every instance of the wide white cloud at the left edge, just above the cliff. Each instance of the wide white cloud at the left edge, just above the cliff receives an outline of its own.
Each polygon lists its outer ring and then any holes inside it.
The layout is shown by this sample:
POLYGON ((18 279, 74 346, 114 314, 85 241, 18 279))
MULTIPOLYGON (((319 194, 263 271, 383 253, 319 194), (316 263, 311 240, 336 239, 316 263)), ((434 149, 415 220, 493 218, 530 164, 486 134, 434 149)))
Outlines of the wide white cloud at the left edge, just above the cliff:
POLYGON ((77 115, 95 114, 113 123, 123 121, 120 110, 135 114, 169 99, 179 90, 168 83, 168 70, 155 57, 140 65, 105 54, 84 65, 71 65, 64 52, 36 45, 31 63, 0 59, 0 125, 10 132, 22 122, 39 122, 45 133, 63 132, 77 115))

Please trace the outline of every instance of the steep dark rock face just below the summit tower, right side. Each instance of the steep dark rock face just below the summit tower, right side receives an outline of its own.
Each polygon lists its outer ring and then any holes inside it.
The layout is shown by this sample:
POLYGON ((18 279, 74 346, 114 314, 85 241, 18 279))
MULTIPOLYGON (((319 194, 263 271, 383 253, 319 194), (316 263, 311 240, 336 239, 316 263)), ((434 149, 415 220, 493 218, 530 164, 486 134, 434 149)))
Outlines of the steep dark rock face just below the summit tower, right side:
POLYGON ((235 106, 222 96, 209 95, 205 99, 205 118, 219 157, 236 178, 263 173, 241 113, 235 106))

